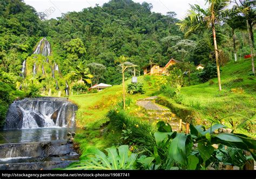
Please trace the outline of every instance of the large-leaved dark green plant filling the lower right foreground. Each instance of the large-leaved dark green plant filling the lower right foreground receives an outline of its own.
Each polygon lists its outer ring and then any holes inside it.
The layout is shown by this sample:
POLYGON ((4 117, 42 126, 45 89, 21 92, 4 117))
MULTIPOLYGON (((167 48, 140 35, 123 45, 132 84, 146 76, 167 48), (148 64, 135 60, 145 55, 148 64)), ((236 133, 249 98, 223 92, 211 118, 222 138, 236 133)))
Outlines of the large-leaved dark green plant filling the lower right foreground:
MULTIPOLYGON (((172 132, 171 126, 163 121, 158 122, 157 127, 158 132, 154 133, 157 147, 158 149, 167 148, 169 151, 169 162, 163 169, 173 169, 180 165, 179 168, 181 169, 194 170, 206 168, 214 161, 237 164, 237 166, 242 167, 248 160, 248 157, 246 159, 242 154, 242 150, 251 152, 251 149, 256 148, 256 141, 246 135, 214 134, 214 130, 226 127, 221 124, 215 124, 208 129, 204 126, 193 126, 191 124, 190 134, 172 132), (228 150, 221 147, 214 149, 213 144, 228 146, 228 150), (223 161, 223 156, 231 154, 230 152, 232 152, 232 155, 230 155, 228 161, 223 161), (239 160, 235 160, 235 157, 238 157, 239 160)), ((251 154, 251 158, 253 157, 255 160, 255 154, 253 152, 251 154)), ((161 162, 161 159, 157 159, 156 152, 154 152, 153 156, 140 158, 138 162, 144 164, 146 169, 156 169, 161 168, 161 166, 157 166, 157 163, 160 163, 159 161, 161 162)))

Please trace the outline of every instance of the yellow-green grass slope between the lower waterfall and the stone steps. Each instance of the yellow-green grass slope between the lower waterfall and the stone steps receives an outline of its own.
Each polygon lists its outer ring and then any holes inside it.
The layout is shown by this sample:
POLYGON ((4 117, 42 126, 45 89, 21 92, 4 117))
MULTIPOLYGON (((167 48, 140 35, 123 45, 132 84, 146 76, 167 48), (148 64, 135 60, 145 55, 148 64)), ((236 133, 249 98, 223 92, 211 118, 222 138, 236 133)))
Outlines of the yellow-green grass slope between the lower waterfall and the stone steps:
MULTIPOLYGON (((144 77, 138 78, 139 82, 144 82, 145 94, 129 95, 126 94, 126 99, 130 99, 132 104, 135 104, 139 98, 150 97, 152 93, 156 92, 153 86, 154 77, 146 82, 144 77)), ((131 79, 125 82, 125 85, 131 83, 131 79)), ((106 88, 103 91, 93 94, 72 95, 70 100, 78 105, 77 125, 78 127, 93 127, 97 128, 103 123, 105 114, 114 107, 118 102, 122 101, 122 85, 114 85, 106 88), (97 123, 98 121, 98 123, 97 123)), ((137 108, 135 105, 132 108, 137 108)))

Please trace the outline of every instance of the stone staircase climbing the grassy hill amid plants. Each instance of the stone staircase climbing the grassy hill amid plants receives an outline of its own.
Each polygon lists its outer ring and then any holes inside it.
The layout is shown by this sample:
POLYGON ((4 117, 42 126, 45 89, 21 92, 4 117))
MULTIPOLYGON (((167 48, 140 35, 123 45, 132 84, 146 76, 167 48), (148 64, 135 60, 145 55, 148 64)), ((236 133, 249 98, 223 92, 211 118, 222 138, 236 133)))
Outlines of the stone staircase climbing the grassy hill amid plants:
POLYGON ((179 119, 169 108, 156 104, 157 98, 149 97, 137 100, 136 104, 142 108, 138 114, 139 118, 149 122, 165 121, 171 125, 173 131, 178 131, 179 119))

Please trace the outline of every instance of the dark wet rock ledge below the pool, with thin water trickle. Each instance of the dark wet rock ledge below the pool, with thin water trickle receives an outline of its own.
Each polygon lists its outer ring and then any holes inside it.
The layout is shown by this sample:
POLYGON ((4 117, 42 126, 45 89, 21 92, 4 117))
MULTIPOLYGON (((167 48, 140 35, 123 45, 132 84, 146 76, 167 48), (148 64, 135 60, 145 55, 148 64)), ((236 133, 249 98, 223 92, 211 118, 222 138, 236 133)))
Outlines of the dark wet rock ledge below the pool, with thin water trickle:
POLYGON ((0 170, 65 168, 78 158, 68 140, 0 144, 0 170))

